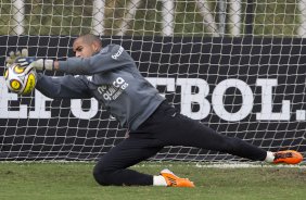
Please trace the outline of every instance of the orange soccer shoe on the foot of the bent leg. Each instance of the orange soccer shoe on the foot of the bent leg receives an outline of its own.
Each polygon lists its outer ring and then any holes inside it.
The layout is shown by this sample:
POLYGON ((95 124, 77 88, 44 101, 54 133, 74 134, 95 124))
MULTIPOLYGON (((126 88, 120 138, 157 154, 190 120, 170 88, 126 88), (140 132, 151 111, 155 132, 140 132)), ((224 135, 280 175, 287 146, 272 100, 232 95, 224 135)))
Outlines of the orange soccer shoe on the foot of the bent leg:
POLYGON ((163 170, 161 175, 166 179, 167 187, 194 187, 193 182, 190 182, 188 178, 176 176, 168 168, 163 170))

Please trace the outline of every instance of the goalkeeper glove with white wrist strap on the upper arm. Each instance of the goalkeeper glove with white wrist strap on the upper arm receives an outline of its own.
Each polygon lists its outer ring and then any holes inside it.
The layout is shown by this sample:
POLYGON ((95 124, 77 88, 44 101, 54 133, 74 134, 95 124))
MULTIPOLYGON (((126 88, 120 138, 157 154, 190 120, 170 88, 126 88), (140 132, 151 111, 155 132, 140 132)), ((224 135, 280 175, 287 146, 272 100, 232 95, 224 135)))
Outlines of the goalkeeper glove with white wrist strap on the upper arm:
POLYGON ((54 70, 54 61, 49 59, 38 59, 33 57, 26 57, 26 58, 17 58, 15 60, 15 63, 18 63, 21 66, 26 67, 28 65, 31 65, 34 68, 39 71, 53 71, 54 70))

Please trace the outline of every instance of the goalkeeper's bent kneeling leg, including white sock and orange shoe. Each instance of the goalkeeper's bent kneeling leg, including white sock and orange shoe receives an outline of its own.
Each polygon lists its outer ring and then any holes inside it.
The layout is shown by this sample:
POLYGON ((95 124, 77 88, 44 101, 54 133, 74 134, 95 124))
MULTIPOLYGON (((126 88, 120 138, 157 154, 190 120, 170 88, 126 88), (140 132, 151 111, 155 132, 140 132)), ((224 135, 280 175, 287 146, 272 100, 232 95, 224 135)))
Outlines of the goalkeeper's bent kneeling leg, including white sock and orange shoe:
POLYGON ((161 148, 163 143, 150 138, 148 134, 130 134, 130 138, 113 148, 97 163, 93 176, 103 186, 194 187, 192 182, 180 178, 168 170, 163 170, 160 175, 152 176, 127 168, 154 155, 161 148))

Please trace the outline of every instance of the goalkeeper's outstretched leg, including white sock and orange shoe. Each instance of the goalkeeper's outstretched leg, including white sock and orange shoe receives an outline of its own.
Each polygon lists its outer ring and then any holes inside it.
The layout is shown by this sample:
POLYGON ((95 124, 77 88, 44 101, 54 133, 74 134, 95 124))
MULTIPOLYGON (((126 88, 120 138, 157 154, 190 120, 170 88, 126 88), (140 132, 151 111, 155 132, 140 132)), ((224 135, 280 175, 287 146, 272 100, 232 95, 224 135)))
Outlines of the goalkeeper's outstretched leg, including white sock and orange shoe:
POLYGON ((163 128, 168 130, 166 132, 167 134, 163 135, 163 138, 165 141, 174 142, 173 145, 215 150, 253 161, 266 161, 269 163, 297 164, 303 161, 303 155, 296 151, 265 151, 240 138, 220 135, 212 128, 181 114, 168 120, 164 127, 168 127, 163 128), (176 137, 173 137, 174 135, 176 137))

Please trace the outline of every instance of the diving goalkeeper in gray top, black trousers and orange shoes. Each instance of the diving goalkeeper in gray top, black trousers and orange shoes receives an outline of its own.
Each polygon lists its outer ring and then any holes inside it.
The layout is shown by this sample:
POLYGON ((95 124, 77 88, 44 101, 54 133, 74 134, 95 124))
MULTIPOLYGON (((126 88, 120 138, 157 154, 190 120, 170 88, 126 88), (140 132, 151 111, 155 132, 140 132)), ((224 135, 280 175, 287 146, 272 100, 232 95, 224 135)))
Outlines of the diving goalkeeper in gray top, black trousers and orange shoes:
POLYGON ((78 75, 54 78, 39 73, 36 89, 53 99, 94 97, 129 130, 129 137, 94 166, 93 176, 100 185, 194 187, 169 170, 153 176, 128 168, 165 146, 196 147, 268 163, 296 164, 303 160, 296 151, 265 151, 180 114, 141 76, 132 58, 118 45, 102 47, 97 36, 84 35, 75 39, 73 50, 76 57, 66 61, 28 57, 11 61, 24 67, 30 64, 37 70, 78 75))

